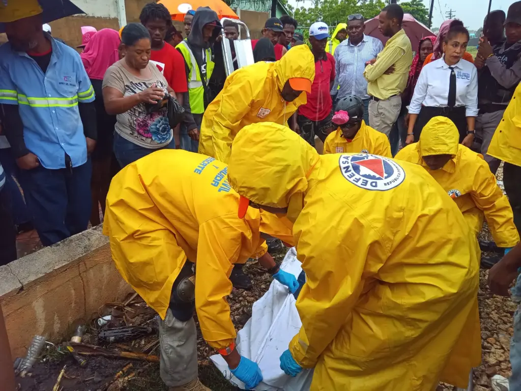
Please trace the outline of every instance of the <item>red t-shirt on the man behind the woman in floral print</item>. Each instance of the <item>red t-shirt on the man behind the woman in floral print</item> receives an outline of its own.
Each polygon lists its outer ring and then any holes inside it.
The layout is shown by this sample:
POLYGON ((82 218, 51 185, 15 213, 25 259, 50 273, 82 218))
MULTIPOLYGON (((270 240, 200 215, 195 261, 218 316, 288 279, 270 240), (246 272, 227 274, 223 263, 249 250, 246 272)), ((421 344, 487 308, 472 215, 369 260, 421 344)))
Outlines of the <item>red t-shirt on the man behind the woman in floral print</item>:
POLYGON ((165 42, 160 50, 150 52, 150 60, 165 76, 168 85, 175 92, 188 92, 187 71, 184 58, 175 47, 165 42))

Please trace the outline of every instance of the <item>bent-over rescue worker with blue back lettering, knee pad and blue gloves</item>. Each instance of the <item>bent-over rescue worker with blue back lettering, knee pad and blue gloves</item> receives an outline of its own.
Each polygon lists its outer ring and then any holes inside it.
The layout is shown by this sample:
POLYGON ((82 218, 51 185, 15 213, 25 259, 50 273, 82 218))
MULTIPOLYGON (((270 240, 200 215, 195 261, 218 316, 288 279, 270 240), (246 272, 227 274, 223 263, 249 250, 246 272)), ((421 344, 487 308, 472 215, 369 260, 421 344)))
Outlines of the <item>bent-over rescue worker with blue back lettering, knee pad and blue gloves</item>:
POLYGON ((129 164, 110 184, 103 232, 122 277, 161 317, 160 374, 171 391, 209 390, 197 377, 194 307, 204 339, 231 372, 250 388, 262 380, 235 349, 226 301, 234 263, 258 258, 290 291, 299 286, 261 239, 262 231, 291 243, 291 223, 255 210, 238 218, 227 169, 213 157, 164 150, 129 164))

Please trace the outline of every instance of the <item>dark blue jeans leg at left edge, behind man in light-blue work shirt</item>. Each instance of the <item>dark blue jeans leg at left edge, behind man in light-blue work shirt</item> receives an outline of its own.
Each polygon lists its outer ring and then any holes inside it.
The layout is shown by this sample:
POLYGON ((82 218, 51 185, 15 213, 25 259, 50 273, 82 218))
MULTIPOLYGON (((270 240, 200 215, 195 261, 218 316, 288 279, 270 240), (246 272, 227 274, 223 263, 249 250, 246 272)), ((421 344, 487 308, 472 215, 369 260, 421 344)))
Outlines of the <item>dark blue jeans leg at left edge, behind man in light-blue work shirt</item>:
POLYGON ((11 148, 0 149, 0 163, 4 167, 6 181, 4 191, 13 206, 13 221, 16 225, 29 223, 32 218, 27 210, 26 201, 23 199, 20 188, 15 179, 19 181, 20 168, 16 165, 15 156, 11 148))

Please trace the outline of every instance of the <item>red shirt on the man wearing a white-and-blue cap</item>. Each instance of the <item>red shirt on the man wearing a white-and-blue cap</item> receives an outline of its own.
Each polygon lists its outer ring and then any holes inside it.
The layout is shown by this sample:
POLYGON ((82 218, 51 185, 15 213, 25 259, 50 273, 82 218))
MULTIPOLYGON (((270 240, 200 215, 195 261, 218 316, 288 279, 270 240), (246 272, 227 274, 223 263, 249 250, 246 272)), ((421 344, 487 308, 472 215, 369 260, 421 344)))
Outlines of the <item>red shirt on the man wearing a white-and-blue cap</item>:
POLYGON ((311 94, 307 94, 307 103, 299 107, 299 114, 312 121, 326 118, 333 108, 329 85, 335 76, 334 58, 329 53, 326 53, 326 57, 326 60, 315 62, 315 80, 311 85, 311 94))

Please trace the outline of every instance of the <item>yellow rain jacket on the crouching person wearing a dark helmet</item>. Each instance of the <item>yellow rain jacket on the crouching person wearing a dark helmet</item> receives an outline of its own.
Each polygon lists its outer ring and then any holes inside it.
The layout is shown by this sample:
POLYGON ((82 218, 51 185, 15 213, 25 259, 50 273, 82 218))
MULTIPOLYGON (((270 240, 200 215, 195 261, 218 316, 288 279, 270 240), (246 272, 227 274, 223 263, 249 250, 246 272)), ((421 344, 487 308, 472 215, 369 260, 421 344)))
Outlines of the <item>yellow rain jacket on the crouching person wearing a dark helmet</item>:
POLYGON ((362 120, 362 126, 353 140, 348 141, 342 136, 342 130, 329 133, 324 143, 324 154, 326 153, 372 153, 392 157, 391 144, 383 133, 371 128, 362 120))

